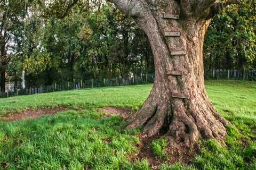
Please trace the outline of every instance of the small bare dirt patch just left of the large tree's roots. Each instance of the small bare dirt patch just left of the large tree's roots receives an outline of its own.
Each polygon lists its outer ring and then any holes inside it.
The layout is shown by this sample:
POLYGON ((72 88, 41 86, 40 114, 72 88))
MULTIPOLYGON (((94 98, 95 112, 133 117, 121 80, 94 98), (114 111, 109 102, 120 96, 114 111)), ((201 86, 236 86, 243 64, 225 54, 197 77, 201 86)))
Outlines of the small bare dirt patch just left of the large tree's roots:
POLYGON ((104 107, 104 108, 100 108, 98 112, 106 113, 104 117, 117 115, 117 116, 121 116, 122 118, 127 118, 132 114, 130 108, 118 108, 118 107, 104 107))

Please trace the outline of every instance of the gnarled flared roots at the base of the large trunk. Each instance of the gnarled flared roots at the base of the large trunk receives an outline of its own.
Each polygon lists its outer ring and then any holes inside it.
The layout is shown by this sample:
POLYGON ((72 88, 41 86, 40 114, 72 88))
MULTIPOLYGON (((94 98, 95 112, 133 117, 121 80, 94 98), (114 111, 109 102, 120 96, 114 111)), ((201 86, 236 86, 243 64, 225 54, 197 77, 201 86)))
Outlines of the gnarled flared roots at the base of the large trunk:
MULTIPOLYGON (((161 99, 149 96, 145 104, 130 118, 127 128, 143 127, 148 137, 160 135, 170 140, 170 146, 182 145, 198 148, 198 140, 214 139, 225 144, 228 122, 209 106, 186 104, 183 99, 161 99), (158 103, 156 102, 158 101, 158 103)), ((178 147, 180 148, 180 147, 178 147)))

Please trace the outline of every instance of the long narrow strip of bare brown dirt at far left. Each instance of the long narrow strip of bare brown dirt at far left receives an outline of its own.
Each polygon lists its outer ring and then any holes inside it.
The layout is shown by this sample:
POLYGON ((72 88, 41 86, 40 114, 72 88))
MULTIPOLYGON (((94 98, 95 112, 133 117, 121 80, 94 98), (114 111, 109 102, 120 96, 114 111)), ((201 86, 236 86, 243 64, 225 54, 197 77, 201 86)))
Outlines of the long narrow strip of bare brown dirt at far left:
POLYGON ((4 115, 2 118, 4 121, 13 122, 13 121, 24 120, 28 118, 34 119, 34 118, 45 116, 45 115, 47 116, 55 115, 67 110, 68 108, 66 107, 58 107, 58 108, 51 108, 51 109, 43 108, 38 110, 28 109, 22 113, 4 115))

